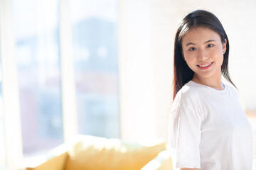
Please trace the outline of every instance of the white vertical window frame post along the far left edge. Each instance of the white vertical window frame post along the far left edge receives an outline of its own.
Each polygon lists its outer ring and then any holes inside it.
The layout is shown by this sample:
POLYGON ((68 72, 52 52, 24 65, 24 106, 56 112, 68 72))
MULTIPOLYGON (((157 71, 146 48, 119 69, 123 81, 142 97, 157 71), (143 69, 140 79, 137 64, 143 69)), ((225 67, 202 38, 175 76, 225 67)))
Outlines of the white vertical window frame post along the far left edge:
POLYGON ((11 1, 0 0, 0 45, 6 166, 16 168, 22 164, 23 152, 11 8, 11 1))

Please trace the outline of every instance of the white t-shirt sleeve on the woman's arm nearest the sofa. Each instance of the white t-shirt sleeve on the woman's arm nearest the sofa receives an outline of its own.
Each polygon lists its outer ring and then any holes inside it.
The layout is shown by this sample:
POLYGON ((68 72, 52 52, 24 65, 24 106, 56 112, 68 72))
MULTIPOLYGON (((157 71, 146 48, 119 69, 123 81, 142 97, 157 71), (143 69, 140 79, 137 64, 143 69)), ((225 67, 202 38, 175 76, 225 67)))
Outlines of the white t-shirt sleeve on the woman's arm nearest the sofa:
POLYGON ((179 104, 171 111, 170 142, 176 152, 177 168, 201 168, 201 123, 201 116, 191 106, 179 104))

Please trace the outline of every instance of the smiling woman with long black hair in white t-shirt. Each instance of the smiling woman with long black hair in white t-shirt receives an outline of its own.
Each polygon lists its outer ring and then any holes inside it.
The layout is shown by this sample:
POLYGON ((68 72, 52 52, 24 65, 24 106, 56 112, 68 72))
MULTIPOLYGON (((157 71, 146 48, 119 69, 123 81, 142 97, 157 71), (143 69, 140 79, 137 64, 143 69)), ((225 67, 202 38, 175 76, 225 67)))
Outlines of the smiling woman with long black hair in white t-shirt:
POLYGON ((170 142, 176 167, 252 169, 252 128, 228 74, 229 42, 213 13, 189 13, 176 32, 170 142), (221 76, 230 84, 223 84, 221 76))

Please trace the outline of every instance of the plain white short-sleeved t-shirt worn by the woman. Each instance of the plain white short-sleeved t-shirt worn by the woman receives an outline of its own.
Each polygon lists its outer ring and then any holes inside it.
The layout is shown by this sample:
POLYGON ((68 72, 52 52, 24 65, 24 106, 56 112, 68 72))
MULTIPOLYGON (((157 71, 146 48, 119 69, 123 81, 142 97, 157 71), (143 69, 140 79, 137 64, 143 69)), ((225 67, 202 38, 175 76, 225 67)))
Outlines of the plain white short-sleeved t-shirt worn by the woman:
POLYGON ((177 168, 251 170, 252 128, 237 91, 189 81, 174 99, 170 117, 171 148, 177 168))

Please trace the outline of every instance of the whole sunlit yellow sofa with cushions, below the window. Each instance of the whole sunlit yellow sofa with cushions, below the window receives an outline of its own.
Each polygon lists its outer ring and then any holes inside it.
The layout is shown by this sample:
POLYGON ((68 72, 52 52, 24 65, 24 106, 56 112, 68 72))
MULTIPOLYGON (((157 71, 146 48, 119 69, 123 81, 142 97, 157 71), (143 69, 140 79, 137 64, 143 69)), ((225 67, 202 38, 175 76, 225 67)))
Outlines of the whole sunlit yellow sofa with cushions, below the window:
POLYGON ((125 142, 78 135, 51 150, 46 159, 27 170, 172 170, 171 152, 161 141, 125 142))

